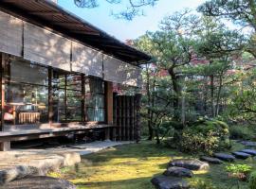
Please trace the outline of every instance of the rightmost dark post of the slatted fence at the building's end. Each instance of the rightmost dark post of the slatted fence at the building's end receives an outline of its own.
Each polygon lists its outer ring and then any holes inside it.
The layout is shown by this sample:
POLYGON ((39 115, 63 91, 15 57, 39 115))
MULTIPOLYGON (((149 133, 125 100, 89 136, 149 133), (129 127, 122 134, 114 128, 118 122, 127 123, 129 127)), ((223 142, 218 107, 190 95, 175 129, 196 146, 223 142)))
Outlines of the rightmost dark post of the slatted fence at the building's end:
POLYGON ((137 143, 140 141, 140 103, 141 94, 135 95, 135 106, 136 106, 136 124, 135 124, 135 140, 137 143))

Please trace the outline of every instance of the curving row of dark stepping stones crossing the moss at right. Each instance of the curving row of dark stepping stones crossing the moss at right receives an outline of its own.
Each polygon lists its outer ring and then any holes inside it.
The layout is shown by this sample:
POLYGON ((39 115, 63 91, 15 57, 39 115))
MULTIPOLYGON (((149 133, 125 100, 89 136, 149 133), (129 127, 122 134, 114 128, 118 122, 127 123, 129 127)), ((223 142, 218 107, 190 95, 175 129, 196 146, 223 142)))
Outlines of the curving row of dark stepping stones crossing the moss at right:
MULTIPOLYGON (((256 146, 256 142, 243 141, 245 146, 256 146)), ((228 153, 215 153, 213 157, 203 156, 200 160, 197 159, 178 159, 171 161, 168 168, 160 176, 155 176, 151 182, 157 189, 187 189, 190 188, 190 183, 183 178, 192 178, 193 170, 209 169, 210 164, 220 164, 225 162, 234 162, 235 159, 247 159, 251 156, 256 156, 256 149, 243 149, 240 151, 228 153), (231 155, 232 154, 232 155, 231 155)))

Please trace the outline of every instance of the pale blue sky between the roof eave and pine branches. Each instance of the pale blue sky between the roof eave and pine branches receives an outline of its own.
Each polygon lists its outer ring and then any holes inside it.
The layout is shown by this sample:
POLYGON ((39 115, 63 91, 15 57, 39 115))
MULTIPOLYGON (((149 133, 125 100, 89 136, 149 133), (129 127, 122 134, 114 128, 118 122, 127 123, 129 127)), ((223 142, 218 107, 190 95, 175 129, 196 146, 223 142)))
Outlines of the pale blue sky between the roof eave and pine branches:
MULTIPOLYGON (((128 0, 123 0, 128 1, 128 0)), ((119 6, 110 6, 105 0, 99 0, 100 6, 95 9, 78 8, 73 0, 58 0, 58 4, 78 15, 83 20, 89 22, 93 26, 97 26, 111 36, 122 42, 125 40, 136 39, 145 34, 146 31, 155 31, 159 22, 167 15, 182 9, 196 9, 205 0, 159 0, 155 7, 147 7, 143 9, 144 16, 138 16, 132 21, 114 18, 112 11, 125 9, 119 6)))

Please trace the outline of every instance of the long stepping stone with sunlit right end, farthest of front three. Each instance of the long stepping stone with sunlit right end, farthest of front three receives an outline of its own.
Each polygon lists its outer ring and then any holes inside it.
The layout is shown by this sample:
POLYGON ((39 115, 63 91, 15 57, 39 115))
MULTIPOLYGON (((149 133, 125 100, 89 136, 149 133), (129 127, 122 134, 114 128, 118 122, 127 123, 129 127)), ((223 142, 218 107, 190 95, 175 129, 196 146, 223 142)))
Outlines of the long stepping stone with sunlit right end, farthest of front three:
POLYGON ((190 170, 206 170, 206 169, 209 169, 210 167, 209 163, 204 163, 196 159, 174 160, 169 163, 169 166, 178 166, 178 167, 183 167, 190 170))

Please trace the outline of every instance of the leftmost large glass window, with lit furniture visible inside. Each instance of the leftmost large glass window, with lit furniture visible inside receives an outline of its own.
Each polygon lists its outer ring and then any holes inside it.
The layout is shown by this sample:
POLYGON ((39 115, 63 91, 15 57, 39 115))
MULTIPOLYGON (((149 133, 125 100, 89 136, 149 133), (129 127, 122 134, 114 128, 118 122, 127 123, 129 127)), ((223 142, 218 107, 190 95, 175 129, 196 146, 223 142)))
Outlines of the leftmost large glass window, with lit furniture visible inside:
POLYGON ((11 58, 5 67, 5 124, 48 121, 48 71, 27 60, 11 58))

